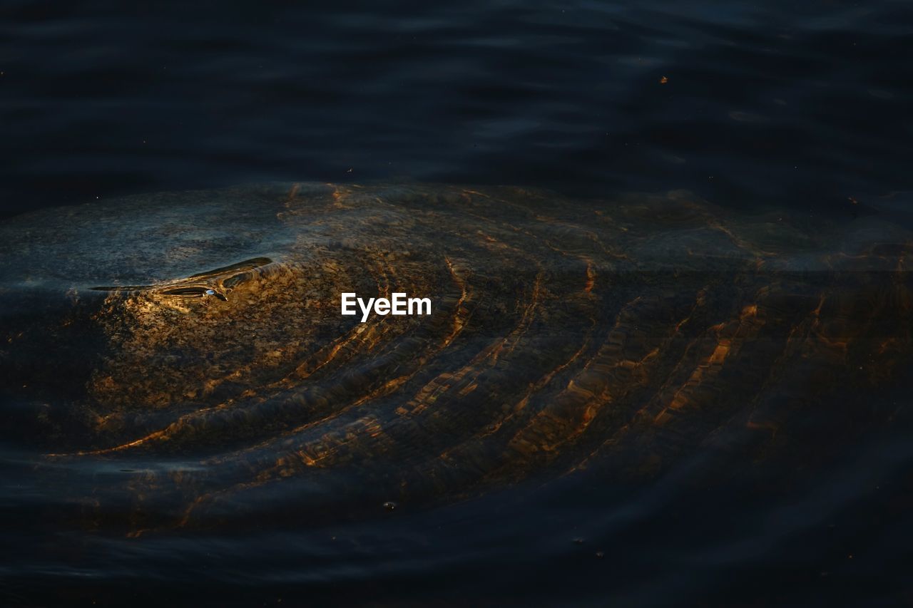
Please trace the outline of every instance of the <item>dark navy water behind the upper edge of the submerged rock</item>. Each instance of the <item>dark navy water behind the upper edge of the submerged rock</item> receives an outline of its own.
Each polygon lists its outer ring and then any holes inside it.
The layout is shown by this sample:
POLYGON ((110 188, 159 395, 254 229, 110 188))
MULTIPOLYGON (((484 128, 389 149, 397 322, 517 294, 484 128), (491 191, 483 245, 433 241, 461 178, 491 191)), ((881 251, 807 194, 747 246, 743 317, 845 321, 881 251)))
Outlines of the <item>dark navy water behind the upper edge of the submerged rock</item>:
POLYGON ((408 179, 845 211, 913 186, 911 32, 906 0, 7 0, 0 200, 408 179))

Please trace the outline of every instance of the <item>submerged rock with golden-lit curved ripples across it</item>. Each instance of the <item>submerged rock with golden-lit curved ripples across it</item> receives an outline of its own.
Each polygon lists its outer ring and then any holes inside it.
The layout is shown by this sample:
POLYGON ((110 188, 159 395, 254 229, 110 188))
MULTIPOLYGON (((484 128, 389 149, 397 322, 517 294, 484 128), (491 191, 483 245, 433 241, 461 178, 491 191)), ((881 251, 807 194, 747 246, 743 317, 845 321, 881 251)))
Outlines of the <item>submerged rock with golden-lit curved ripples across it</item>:
POLYGON ((650 478, 700 452, 805 464, 886 424, 866 395, 909 363, 913 240, 877 217, 278 184, 0 236, 7 460, 55 517, 134 536, 582 467, 650 478), (340 314, 352 291, 432 314, 362 323, 340 314))

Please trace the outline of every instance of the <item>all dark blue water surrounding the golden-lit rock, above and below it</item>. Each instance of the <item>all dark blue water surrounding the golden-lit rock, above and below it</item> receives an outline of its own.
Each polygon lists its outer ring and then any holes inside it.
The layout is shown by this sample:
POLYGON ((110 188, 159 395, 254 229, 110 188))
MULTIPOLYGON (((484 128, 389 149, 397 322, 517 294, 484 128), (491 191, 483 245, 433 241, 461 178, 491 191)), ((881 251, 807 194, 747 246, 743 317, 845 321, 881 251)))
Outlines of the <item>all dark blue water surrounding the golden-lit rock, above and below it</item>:
MULTIPOLYGON (((12 215, 230 183, 408 180, 897 210, 913 189, 911 48, 904 0, 6 0, 0 204, 12 215)), ((0 572, 5 596, 37 605, 142 602, 150 585, 250 605, 909 602, 906 439, 847 446, 828 475, 763 499, 752 491, 775 479, 713 492, 583 480, 363 522, 340 537, 372 542, 348 550, 289 532, 188 540, 177 559, 173 545, 8 527, 0 572), (71 571, 12 565, 51 545, 71 571), (58 575, 63 591, 46 584, 58 575)))

